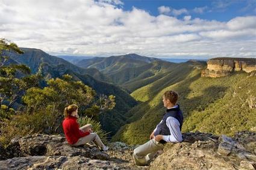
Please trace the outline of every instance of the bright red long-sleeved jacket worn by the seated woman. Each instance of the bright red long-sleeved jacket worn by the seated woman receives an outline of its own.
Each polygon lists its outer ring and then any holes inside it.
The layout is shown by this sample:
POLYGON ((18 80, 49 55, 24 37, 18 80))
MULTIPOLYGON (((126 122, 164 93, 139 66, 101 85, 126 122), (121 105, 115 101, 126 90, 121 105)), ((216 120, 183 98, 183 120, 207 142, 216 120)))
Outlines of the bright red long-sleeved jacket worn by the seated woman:
POLYGON ((83 132, 80 130, 76 120, 76 117, 69 116, 65 118, 62 123, 67 142, 71 145, 75 144, 79 138, 90 134, 90 132, 83 132))

